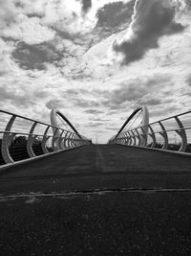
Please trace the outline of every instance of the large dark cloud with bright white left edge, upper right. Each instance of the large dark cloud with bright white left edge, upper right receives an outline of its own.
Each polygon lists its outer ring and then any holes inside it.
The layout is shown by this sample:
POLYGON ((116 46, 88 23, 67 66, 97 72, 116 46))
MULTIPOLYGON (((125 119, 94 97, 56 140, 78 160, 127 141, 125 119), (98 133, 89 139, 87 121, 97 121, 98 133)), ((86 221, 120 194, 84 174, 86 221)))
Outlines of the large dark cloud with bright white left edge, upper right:
POLYGON ((174 21, 175 7, 169 0, 137 0, 131 23, 131 33, 122 42, 113 45, 117 53, 124 55, 122 64, 128 64, 144 56, 149 49, 159 47, 159 37, 183 31, 174 21))

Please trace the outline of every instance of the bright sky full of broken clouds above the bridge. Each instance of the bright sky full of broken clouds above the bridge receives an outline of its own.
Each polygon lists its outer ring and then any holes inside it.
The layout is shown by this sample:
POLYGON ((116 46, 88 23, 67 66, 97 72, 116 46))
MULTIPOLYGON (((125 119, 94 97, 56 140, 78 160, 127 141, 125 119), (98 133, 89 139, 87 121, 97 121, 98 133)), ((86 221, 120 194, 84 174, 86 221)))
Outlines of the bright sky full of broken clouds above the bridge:
POLYGON ((190 110, 191 0, 0 0, 0 108, 106 142, 139 105, 190 110))

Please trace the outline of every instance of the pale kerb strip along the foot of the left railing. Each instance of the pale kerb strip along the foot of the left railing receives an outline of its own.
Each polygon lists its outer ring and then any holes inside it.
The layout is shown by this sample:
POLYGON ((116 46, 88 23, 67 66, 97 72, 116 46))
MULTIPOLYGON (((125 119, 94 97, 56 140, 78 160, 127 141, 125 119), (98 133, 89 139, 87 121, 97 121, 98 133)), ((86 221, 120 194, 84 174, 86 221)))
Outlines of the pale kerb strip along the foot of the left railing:
POLYGON ((74 148, 70 148, 70 149, 65 149, 65 150, 62 150, 62 151, 53 151, 53 152, 42 154, 42 155, 38 155, 38 156, 35 156, 35 157, 32 157, 32 158, 20 160, 18 162, 12 163, 12 164, 2 165, 2 166, 0 166, 0 175, 5 173, 5 171, 11 169, 14 166, 19 166, 19 165, 23 165, 25 163, 30 163, 32 161, 35 161, 35 160, 38 160, 38 159, 41 159, 41 158, 46 158, 46 157, 48 157, 50 155, 53 155, 53 154, 56 154, 56 153, 60 153, 60 152, 63 152, 63 151, 72 151, 74 149, 77 149, 77 148, 83 147, 83 146, 84 145, 80 145, 80 146, 77 146, 77 147, 74 147, 74 148))

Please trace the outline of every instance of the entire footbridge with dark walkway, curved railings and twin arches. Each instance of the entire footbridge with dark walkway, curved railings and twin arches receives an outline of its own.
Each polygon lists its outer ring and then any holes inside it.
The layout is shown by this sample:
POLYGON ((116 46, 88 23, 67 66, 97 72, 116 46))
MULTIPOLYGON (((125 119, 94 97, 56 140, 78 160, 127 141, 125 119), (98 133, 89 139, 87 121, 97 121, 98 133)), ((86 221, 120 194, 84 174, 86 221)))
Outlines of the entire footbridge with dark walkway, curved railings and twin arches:
POLYGON ((190 255, 191 111, 138 107, 95 145, 58 109, 0 110, 0 134, 2 255, 190 255))

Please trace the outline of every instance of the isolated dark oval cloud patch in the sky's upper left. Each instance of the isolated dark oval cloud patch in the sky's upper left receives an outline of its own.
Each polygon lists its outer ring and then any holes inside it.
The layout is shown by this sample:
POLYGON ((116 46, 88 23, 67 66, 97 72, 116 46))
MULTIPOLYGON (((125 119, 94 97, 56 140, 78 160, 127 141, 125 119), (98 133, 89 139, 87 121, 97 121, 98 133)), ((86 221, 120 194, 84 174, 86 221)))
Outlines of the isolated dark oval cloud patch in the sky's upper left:
POLYGON ((24 69, 43 70, 46 69, 46 63, 59 61, 63 55, 50 43, 29 45, 19 42, 12 52, 12 58, 24 69))

